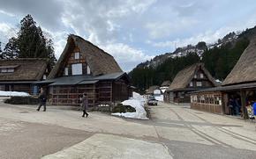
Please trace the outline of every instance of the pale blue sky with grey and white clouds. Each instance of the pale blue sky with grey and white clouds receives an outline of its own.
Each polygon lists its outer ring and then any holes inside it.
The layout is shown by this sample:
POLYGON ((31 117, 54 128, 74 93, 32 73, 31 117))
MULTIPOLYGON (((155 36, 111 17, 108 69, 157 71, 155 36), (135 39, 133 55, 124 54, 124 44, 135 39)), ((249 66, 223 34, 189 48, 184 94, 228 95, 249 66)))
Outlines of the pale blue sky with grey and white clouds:
MULTIPOLYGON (((0 41, 31 14, 56 57, 75 33, 112 54, 124 71, 157 54, 256 25, 255 0, 0 0, 0 41)), ((4 47, 4 46, 2 46, 4 47)))

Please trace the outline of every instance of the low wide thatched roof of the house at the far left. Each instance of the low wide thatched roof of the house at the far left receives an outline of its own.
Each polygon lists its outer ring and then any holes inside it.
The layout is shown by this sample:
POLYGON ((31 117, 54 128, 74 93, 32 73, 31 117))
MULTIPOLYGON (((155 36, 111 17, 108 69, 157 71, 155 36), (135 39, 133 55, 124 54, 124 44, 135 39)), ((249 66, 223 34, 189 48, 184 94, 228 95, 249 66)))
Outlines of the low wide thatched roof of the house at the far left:
POLYGON ((39 81, 49 61, 39 58, 0 60, 0 68, 13 68, 14 72, 0 73, 0 81, 39 81))

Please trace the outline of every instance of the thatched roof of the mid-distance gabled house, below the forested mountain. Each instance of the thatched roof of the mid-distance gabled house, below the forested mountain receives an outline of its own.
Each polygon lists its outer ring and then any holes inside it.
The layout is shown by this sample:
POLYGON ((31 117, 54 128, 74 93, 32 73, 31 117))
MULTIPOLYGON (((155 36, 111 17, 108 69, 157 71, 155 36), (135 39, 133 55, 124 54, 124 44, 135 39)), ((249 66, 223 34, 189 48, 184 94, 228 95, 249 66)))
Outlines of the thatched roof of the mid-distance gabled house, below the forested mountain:
POLYGON ((190 67, 187 67, 185 69, 182 69, 177 73, 177 76, 175 76, 174 80, 169 86, 169 90, 177 90, 177 89, 184 89, 187 87, 187 85, 191 82, 193 76, 195 73, 202 69, 204 73, 206 74, 207 78, 216 86, 215 79, 209 71, 204 67, 203 63, 195 63, 190 67))

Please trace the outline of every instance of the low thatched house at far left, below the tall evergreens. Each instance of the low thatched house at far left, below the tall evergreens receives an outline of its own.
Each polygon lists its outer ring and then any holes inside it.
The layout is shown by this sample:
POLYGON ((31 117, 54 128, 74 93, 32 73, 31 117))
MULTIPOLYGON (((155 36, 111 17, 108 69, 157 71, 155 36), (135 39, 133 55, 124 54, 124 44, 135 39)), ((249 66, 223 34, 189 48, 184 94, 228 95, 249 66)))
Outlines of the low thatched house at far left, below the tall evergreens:
POLYGON ((40 58, 19 58, 0 60, 0 90, 24 91, 37 94, 34 82, 42 81, 49 75, 49 61, 40 58))

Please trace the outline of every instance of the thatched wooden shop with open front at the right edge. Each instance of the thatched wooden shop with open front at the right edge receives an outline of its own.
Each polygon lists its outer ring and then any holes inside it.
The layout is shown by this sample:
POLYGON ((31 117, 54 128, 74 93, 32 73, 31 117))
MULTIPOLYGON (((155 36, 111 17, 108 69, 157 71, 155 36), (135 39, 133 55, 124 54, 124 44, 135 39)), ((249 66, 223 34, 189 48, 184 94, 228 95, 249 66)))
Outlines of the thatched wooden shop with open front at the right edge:
POLYGON ((222 86, 192 92, 192 108, 206 112, 231 114, 230 98, 241 101, 242 115, 247 118, 246 106, 256 101, 256 37, 241 55, 222 86), (207 99, 208 98, 208 99, 207 99))

